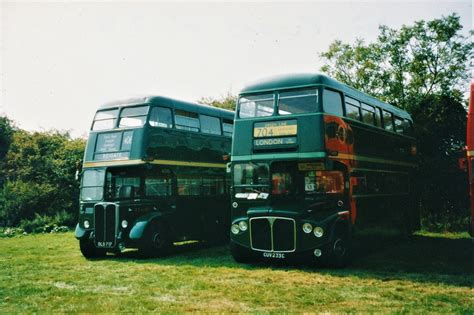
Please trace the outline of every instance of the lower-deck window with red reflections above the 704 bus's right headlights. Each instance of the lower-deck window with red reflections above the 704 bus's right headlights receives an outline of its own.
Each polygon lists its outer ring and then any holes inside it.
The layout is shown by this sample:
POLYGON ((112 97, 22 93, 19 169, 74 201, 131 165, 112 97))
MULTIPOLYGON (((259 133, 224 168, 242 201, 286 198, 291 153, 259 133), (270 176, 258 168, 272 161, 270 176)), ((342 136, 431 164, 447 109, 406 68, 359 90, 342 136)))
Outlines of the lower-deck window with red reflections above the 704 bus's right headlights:
POLYGON ((311 171, 304 175, 306 193, 337 194, 344 192, 344 176, 338 171, 311 171))

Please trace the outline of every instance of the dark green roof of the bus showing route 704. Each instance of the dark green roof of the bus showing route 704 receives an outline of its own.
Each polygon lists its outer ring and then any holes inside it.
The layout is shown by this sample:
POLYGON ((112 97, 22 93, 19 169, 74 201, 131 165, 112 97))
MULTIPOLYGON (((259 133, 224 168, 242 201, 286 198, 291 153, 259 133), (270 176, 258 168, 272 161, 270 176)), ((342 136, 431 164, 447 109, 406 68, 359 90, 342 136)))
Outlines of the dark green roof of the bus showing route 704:
POLYGON ((322 73, 294 73, 268 77, 245 86, 240 91, 239 95, 263 93, 284 89, 303 88, 315 85, 322 85, 329 88, 333 88, 335 90, 339 90, 348 96, 358 99, 361 102, 379 106, 383 109, 390 110, 398 117, 407 118, 411 120, 410 115, 404 110, 392 106, 388 103, 382 102, 373 96, 356 90, 322 73))

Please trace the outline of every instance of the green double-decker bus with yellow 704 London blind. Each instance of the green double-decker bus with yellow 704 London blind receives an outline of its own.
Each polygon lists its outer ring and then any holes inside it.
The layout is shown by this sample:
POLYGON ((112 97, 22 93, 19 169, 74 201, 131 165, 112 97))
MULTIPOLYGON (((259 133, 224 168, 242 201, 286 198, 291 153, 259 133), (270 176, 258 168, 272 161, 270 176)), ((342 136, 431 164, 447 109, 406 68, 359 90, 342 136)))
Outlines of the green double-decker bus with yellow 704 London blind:
POLYGON ((244 88, 231 156, 231 252, 239 262, 350 259, 354 235, 417 227, 409 114, 322 74, 244 88))

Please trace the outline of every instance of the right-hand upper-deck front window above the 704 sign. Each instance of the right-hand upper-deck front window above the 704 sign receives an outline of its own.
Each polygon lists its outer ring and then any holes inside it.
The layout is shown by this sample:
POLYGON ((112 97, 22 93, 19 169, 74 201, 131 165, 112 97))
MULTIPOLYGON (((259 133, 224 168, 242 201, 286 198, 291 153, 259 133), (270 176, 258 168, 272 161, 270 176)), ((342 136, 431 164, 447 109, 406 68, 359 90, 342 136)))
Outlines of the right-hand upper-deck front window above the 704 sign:
POLYGON ((303 114, 315 112, 318 105, 318 90, 315 88, 280 92, 278 97, 278 114, 303 114))

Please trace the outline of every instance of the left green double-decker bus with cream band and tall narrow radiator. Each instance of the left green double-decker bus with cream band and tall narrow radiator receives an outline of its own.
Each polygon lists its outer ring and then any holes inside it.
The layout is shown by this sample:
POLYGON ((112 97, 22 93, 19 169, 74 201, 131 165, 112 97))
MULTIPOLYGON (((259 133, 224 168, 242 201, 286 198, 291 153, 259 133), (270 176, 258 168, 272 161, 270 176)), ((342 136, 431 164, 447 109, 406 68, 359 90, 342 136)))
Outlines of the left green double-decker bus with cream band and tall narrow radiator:
POLYGON ((84 154, 75 236, 85 257, 228 237, 231 111, 153 96, 103 105, 84 154))

